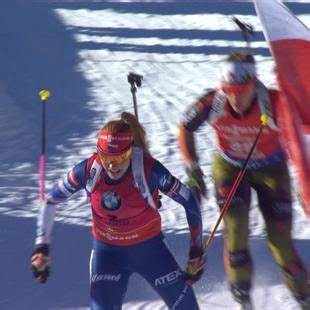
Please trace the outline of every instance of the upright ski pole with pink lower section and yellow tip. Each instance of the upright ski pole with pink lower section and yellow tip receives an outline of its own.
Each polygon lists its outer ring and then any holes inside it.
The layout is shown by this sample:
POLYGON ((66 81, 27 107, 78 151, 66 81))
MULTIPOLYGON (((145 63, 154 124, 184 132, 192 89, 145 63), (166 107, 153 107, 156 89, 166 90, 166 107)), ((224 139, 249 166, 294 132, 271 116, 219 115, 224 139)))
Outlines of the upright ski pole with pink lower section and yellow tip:
POLYGON ((41 204, 44 201, 44 192, 45 192, 45 110, 46 110, 46 100, 51 95, 51 93, 44 89, 39 92, 39 96, 42 102, 41 108, 41 154, 40 154, 40 202, 41 204))

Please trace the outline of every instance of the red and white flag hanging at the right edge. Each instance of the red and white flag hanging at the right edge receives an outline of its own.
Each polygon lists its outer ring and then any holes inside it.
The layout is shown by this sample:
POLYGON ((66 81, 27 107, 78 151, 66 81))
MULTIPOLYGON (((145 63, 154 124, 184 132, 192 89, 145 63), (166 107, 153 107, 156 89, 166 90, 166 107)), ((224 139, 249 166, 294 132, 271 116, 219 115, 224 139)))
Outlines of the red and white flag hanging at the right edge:
POLYGON ((310 216, 310 30, 280 0, 254 0, 254 5, 287 99, 289 153, 310 216))

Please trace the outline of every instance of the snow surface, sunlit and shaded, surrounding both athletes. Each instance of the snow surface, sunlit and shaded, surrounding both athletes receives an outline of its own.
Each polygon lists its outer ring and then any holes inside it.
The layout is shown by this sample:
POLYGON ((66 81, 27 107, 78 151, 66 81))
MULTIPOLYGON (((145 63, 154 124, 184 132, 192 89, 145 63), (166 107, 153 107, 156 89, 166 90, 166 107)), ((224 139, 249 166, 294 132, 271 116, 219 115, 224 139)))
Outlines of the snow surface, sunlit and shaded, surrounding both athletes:
MULTIPOLYGON (((287 5, 309 26, 310 3, 300 2, 287 5)), ((52 92, 47 102, 47 187, 94 151, 107 120, 124 110, 133 112, 129 72, 144 76, 137 100, 152 154, 185 180, 176 126, 186 107, 216 85, 223 56, 245 46, 232 16, 257 30, 252 46, 258 72, 263 82, 274 84, 273 61, 247 1, 0 1, 0 309, 89 309, 91 218, 84 193, 58 210, 48 283, 38 285, 31 276, 39 208, 38 92, 52 92)), ((205 126, 198 136, 201 164, 209 176, 214 135, 205 126)), ((210 177, 208 185, 206 237, 218 216, 210 177)), ((309 219, 294 197, 293 235, 309 265, 309 219)), ((184 266, 188 230, 183 208, 166 198, 163 204, 167 242, 184 266)), ((255 308, 298 309, 267 250, 255 197, 250 220, 255 308)), ((207 271, 194 286, 201 309, 233 309, 222 248, 220 226, 208 251, 207 271)), ((144 279, 133 276, 124 309, 165 306, 144 279)))

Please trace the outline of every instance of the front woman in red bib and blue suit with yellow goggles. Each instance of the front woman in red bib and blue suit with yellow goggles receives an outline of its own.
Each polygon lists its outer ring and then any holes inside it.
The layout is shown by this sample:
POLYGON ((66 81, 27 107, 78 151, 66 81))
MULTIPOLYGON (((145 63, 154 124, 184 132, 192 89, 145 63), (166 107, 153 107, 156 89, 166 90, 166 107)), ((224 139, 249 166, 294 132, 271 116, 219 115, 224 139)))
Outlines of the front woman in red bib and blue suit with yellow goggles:
POLYGON ((200 206, 191 191, 152 158, 145 131, 130 113, 108 122, 97 153, 74 166, 47 194, 32 255, 35 279, 49 274, 49 244, 56 205, 86 189, 92 209, 91 309, 121 309, 128 280, 140 274, 169 309, 198 309, 191 284, 204 268, 200 206), (180 203, 190 230, 186 271, 164 242, 159 191, 180 203))

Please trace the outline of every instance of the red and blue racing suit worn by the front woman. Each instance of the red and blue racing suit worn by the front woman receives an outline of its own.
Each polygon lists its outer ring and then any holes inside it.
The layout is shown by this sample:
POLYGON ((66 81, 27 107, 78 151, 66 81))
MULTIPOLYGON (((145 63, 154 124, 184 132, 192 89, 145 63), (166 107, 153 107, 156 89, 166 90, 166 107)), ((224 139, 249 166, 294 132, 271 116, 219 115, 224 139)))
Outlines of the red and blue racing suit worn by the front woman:
MULTIPOLYGON (((36 243, 50 243, 56 204, 86 188, 96 154, 74 166, 47 194, 36 243)), ((153 199, 159 191, 180 203, 189 224, 191 245, 202 246, 200 207, 191 191, 159 161, 144 156, 144 172, 153 199)), ((90 193, 93 250, 90 260, 92 309, 121 309, 130 276, 144 277, 170 309, 198 309, 191 286, 164 242, 158 210, 135 186, 131 166, 119 179, 102 170, 90 193)))

